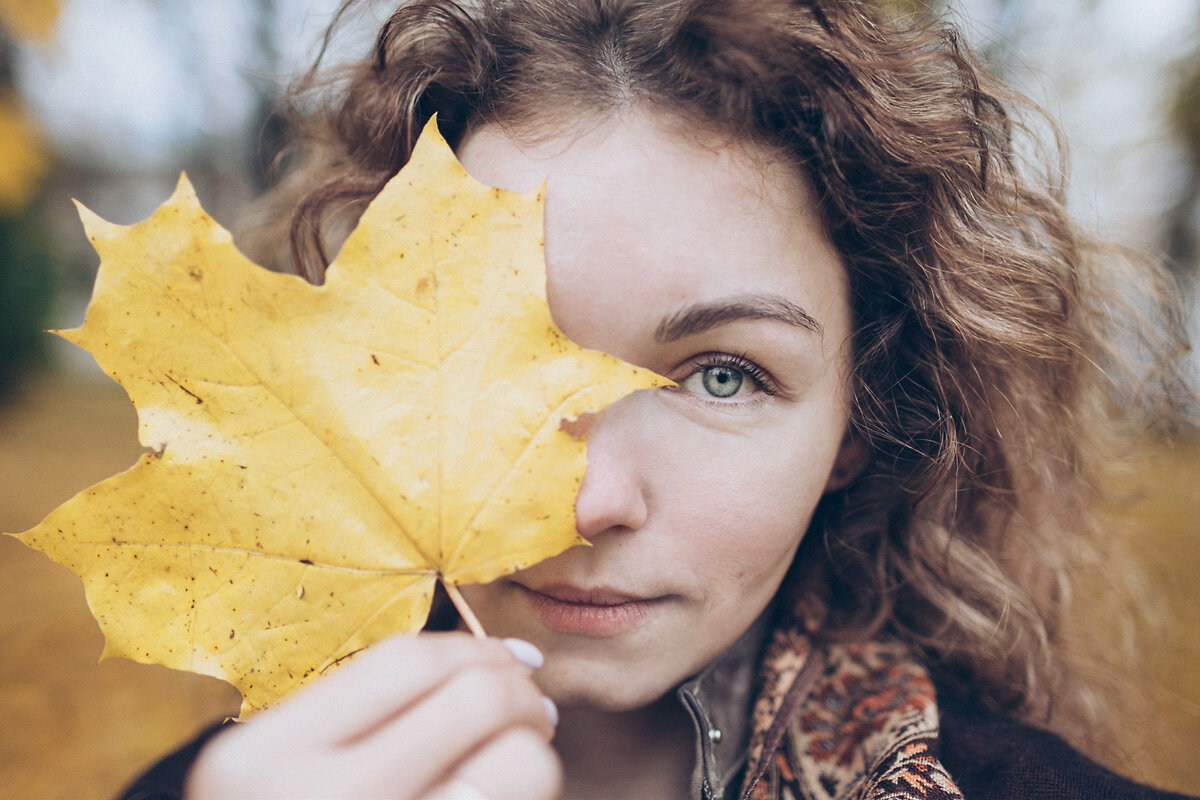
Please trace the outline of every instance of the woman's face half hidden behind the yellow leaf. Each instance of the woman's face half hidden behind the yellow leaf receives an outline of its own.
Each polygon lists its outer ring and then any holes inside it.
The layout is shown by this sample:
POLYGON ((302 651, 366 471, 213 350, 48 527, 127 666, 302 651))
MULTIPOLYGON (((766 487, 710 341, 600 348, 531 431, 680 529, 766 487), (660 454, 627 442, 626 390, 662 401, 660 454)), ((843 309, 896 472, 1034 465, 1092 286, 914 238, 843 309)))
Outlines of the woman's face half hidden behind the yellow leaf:
POLYGON ((846 427, 845 269, 796 170, 648 113, 516 142, 482 127, 480 181, 548 178, 550 306, 583 347, 678 381, 588 421, 572 548, 463 594, 546 654, 559 704, 650 703, 732 644, 779 588, 846 427))

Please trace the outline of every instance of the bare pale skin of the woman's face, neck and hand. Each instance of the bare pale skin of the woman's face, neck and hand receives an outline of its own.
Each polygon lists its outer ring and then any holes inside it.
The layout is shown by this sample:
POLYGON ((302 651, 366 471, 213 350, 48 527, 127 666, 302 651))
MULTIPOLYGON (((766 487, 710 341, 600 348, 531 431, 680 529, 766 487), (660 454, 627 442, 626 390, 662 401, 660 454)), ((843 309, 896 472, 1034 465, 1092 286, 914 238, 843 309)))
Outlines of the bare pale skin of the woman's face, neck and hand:
POLYGON ((545 666, 461 634, 377 645, 215 739, 196 796, 686 796, 694 734, 664 696, 766 608, 848 474, 846 273, 796 169, 640 109, 522 133, 458 155, 492 186, 548 181, 556 321, 678 383, 580 422, 590 548, 463 587, 545 666))

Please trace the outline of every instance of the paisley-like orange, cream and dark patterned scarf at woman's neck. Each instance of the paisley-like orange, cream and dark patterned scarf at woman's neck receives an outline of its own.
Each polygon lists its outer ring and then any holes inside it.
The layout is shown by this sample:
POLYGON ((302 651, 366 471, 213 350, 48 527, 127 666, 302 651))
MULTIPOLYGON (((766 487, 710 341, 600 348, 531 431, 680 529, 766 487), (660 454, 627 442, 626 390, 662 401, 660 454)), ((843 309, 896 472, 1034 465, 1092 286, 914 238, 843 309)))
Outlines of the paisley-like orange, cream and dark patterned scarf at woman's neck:
POLYGON ((936 757, 924 667, 896 643, 814 648, 776 630, 760 670, 743 800, 962 800, 936 757))

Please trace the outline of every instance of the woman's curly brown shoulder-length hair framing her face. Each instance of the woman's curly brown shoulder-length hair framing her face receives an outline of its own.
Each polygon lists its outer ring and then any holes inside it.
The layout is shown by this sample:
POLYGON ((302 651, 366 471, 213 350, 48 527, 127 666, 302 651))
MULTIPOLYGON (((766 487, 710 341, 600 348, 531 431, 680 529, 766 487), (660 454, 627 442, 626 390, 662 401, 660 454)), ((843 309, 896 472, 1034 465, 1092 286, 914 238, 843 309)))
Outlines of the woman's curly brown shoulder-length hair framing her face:
POLYGON ((1033 109, 950 26, 864 0, 418 0, 294 97, 276 200, 317 282, 434 113, 456 144, 644 106, 791 158, 850 273, 869 455, 792 581, 828 606, 820 633, 900 637, 943 686, 1070 733, 1051 698, 1084 690, 1060 618, 1093 464, 1178 419, 1182 326, 1157 266, 1070 219, 1057 149, 1014 116, 1033 109))

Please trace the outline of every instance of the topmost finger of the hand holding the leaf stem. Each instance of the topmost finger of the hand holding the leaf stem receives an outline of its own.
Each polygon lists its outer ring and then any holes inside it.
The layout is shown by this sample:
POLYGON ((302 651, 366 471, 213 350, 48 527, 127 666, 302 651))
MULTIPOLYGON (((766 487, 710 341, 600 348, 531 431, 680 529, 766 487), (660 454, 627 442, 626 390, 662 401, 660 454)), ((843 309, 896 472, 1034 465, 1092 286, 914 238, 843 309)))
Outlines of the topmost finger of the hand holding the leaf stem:
POLYGON ((290 732, 284 741, 343 744, 403 714, 464 668, 514 662, 499 642, 464 633, 385 639, 262 716, 270 714, 274 727, 290 732))

